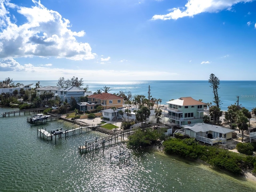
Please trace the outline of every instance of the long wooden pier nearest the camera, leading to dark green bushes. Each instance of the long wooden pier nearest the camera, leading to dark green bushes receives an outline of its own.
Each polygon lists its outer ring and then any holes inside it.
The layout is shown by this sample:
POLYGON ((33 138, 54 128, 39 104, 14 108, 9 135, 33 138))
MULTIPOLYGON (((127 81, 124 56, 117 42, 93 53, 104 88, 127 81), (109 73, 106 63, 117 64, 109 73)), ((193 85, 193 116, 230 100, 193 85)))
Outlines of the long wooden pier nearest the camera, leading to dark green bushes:
POLYGON ((116 132, 112 135, 106 136, 106 137, 101 138, 99 140, 97 140, 97 138, 86 140, 84 145, 80 145, 78 147, 78 152, 87 153, 87 152, 91 152, 91 151, 94 151, 94 150, 98 150, 100 148, 102 148, 104 150, 107 143, 108 143, 108 146, 110 146, 110 144, 112 144, 112 142, 114 142, 114 143, 118 142, 118 138, 120 138, 120 141, 122 141, 122 140, 124 140, 124 135, 127 135, 127 138, 128 138, 128 135, 130 135, 131 133, 136 132, 136 130, 138 130, 138 129, 140 129, 140 127, 136 127, 136 128, 116 132))

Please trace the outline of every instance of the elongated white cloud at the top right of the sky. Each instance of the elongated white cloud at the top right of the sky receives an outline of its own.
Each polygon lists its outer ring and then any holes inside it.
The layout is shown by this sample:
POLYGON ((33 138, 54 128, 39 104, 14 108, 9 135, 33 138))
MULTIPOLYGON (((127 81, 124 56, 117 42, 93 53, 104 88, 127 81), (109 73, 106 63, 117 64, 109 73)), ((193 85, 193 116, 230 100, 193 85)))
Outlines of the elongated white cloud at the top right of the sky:
POLYGON ((176 20, 182 17, 193 17, 203 12, 218 12, 221 10, 232 10, 232 6, 240 2, 252 2, 254 0, 188 0, 181 8, 172 8, 170 13, 164 15, 154 15, 152 20, 176 20))

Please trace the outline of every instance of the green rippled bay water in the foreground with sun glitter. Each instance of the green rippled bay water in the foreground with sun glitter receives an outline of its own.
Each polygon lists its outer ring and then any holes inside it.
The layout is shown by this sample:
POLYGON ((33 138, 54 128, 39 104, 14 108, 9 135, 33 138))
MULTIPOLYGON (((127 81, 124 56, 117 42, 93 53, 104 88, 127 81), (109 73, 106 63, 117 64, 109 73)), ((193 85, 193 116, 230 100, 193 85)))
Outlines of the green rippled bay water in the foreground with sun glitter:
MULTIPOLYGON (((1 108, 0 112, 14 110, 1 108)), ((256 191, 256 182, 209 166, 168 156, 158 150, 136 151, 120 143, 92 154, 79 154, 85 140, 105 134, 91 131, 55 141, 37 136, 37 129, 70 129, 60 120, 41 125, 26 116, 0 117, 0 191, 75 192, 205 192, 256 191), (110 153, 130 152, 129 165, 110 164, 110 153)))

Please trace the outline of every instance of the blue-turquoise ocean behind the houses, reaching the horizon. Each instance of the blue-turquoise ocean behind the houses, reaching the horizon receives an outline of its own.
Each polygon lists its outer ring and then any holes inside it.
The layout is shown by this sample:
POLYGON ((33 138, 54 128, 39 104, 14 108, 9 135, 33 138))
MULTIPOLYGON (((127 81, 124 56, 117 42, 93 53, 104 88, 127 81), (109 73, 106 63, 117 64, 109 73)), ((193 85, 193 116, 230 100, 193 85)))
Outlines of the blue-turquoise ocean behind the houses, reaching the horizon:
MULTIPOLYGON (((38 81, 14 81, 14 83, 32 84, 36 86, 38 81)), ((40 81, 40 86, 56 86, 56 81, 40 81)), ((132 95, 150 96, 156 99, 162 99, 161 104, 166 104, 171 99, 180 97, 192 97, 196 100, 202 99, 202 102, 213 103, 214 94, 208 81, 86 81, 84 87, 88 85, 89 91, 96 92, 104 86, 110 87, 109 93, 118 93, 119 91, 128 92, 132 95)), ((239 101, 242 107, 249 111, 256 107, 256 81, 220 81, 218 89, 221 109, 226 111, 228 106, 239 101)))

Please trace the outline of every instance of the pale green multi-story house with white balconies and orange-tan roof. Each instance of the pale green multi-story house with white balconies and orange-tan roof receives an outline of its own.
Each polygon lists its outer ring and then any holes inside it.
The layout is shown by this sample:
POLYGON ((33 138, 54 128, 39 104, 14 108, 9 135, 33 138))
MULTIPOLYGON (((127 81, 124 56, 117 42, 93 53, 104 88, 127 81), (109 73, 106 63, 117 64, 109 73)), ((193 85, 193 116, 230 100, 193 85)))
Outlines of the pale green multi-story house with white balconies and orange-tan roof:
POLYGON ((205 103, 194 100, 192 97, 181 97, 175 100, 166 102, 168 104, 168 122, 176 124, 181 127, 182 125, 202 123, 204 112, 207 112, 205 103))

